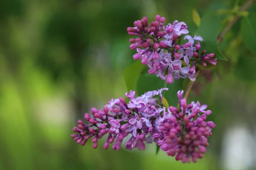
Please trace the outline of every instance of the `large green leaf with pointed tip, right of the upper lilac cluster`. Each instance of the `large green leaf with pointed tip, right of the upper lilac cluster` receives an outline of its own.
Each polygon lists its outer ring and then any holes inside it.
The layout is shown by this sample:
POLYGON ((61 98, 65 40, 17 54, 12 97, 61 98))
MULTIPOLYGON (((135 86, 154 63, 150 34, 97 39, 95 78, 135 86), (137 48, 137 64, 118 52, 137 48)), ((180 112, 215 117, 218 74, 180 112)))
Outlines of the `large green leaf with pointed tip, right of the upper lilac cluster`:
POLYGON ((215 53, 216 58, 227 60, 218 47, 217 37, 220 31, 221 20, 215 14, 207 12, 202 17, 200 27, 196 31, 196 34, 204 39, 201 46, 202 48, 206 48, 207 53, 215 53))

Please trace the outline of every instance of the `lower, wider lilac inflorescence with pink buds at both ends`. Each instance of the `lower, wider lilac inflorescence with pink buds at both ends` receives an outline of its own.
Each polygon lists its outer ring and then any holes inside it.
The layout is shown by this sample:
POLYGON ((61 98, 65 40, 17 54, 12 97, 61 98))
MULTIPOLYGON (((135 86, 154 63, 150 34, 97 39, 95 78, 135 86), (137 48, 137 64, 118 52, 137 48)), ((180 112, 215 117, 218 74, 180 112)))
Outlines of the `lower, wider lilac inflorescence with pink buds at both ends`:
POLYGON ((91 109, 84 114, 86 123, 78 121, 73 127, 71 138, 82 146, 92 138, 93 148, 98 147, 98 140, 106 136, 104 149, 114 143, 112 148, 119 150, 125 137, 129 137, 124 146, 128 150, 145 150, 145 143, 157 143, 169 156, 175 156, 182 162, 196 162, 201 159, 208 146, 207 138, 215 127, 213 122, 205 122, 211 111, 207 105, 192 102, 187 105, 183 91, 178 91, 179 108, 163 106, 162 88, 148 91, 135 98, 135 91, 124 98, 112 99, 103 110, 91 109), (156 96, 159 96, 159 99, 156 96))

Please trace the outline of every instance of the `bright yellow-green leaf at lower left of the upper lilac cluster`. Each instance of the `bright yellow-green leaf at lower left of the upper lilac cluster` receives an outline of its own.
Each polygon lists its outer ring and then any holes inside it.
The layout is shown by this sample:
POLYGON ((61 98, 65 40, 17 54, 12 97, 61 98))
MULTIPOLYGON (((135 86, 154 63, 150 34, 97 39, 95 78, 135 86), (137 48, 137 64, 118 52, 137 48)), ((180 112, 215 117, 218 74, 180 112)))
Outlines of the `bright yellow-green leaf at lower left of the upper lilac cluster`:
POLYGON ((137 81, 145 65, 139 60, 129 65, 124 72, 125 84, 128 91, 136 90, 137 81))

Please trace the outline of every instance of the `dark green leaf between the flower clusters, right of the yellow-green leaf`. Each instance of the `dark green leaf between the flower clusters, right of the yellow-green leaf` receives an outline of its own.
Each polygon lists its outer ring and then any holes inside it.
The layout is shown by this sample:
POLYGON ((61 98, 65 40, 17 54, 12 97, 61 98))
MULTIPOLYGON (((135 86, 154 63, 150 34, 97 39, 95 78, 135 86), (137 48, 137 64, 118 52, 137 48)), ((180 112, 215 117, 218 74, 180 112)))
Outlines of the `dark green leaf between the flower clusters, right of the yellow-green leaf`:
POLYGON ((142 74, 140 75, 137 82, 137 91, 138 96, 144 94, 147 91, 153 91, 160 88, 164 88, 164 83, 160 77, 157 77, 155 74, 142 74))

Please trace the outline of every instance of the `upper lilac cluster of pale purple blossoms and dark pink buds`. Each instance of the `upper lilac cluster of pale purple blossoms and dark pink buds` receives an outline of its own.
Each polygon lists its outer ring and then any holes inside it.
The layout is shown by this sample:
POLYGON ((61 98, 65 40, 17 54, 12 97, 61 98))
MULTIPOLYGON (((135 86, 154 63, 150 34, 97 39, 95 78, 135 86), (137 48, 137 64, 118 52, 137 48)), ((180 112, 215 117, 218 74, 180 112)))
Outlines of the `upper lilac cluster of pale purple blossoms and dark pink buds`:
POLYGON ((130 39, 130 48, 137 49, 133 58, 141 59, 143 65, 148 65, 149 74, 157 74, 169 84, 180 77, 194 81, 197 60, 201 61, 203 67, 207 66, 206 62, 216 65, 215 54, 206 54, 205 50, 200 54, 200 42, 195 41, 203 41, 202 37, 186 35, 184 40, 189 42, 180 45, 182 34, 189 33, 186 23, 175 20, 163 26, 164 22, 165 17, 156 15, 155 21, 148 26, 148 18, 143 17, 134 22, 135 27, 127 28, 128 34, 139 36, 130 39))

